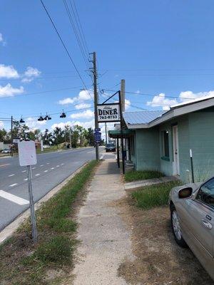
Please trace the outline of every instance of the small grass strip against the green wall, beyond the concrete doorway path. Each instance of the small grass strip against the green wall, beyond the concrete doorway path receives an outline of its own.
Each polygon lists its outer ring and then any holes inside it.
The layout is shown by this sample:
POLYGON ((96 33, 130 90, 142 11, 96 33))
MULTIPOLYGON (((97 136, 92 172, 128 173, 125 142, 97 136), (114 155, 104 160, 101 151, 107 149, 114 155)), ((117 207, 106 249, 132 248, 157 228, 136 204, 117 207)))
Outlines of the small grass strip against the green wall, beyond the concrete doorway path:
POLYGON ((132 182, 135 180, 146 180, 163 176, 163 173, 156 170, 131 170, 130 172, 126 172, 126 174, 124 175, 124 179, 126 182, 132 182))

